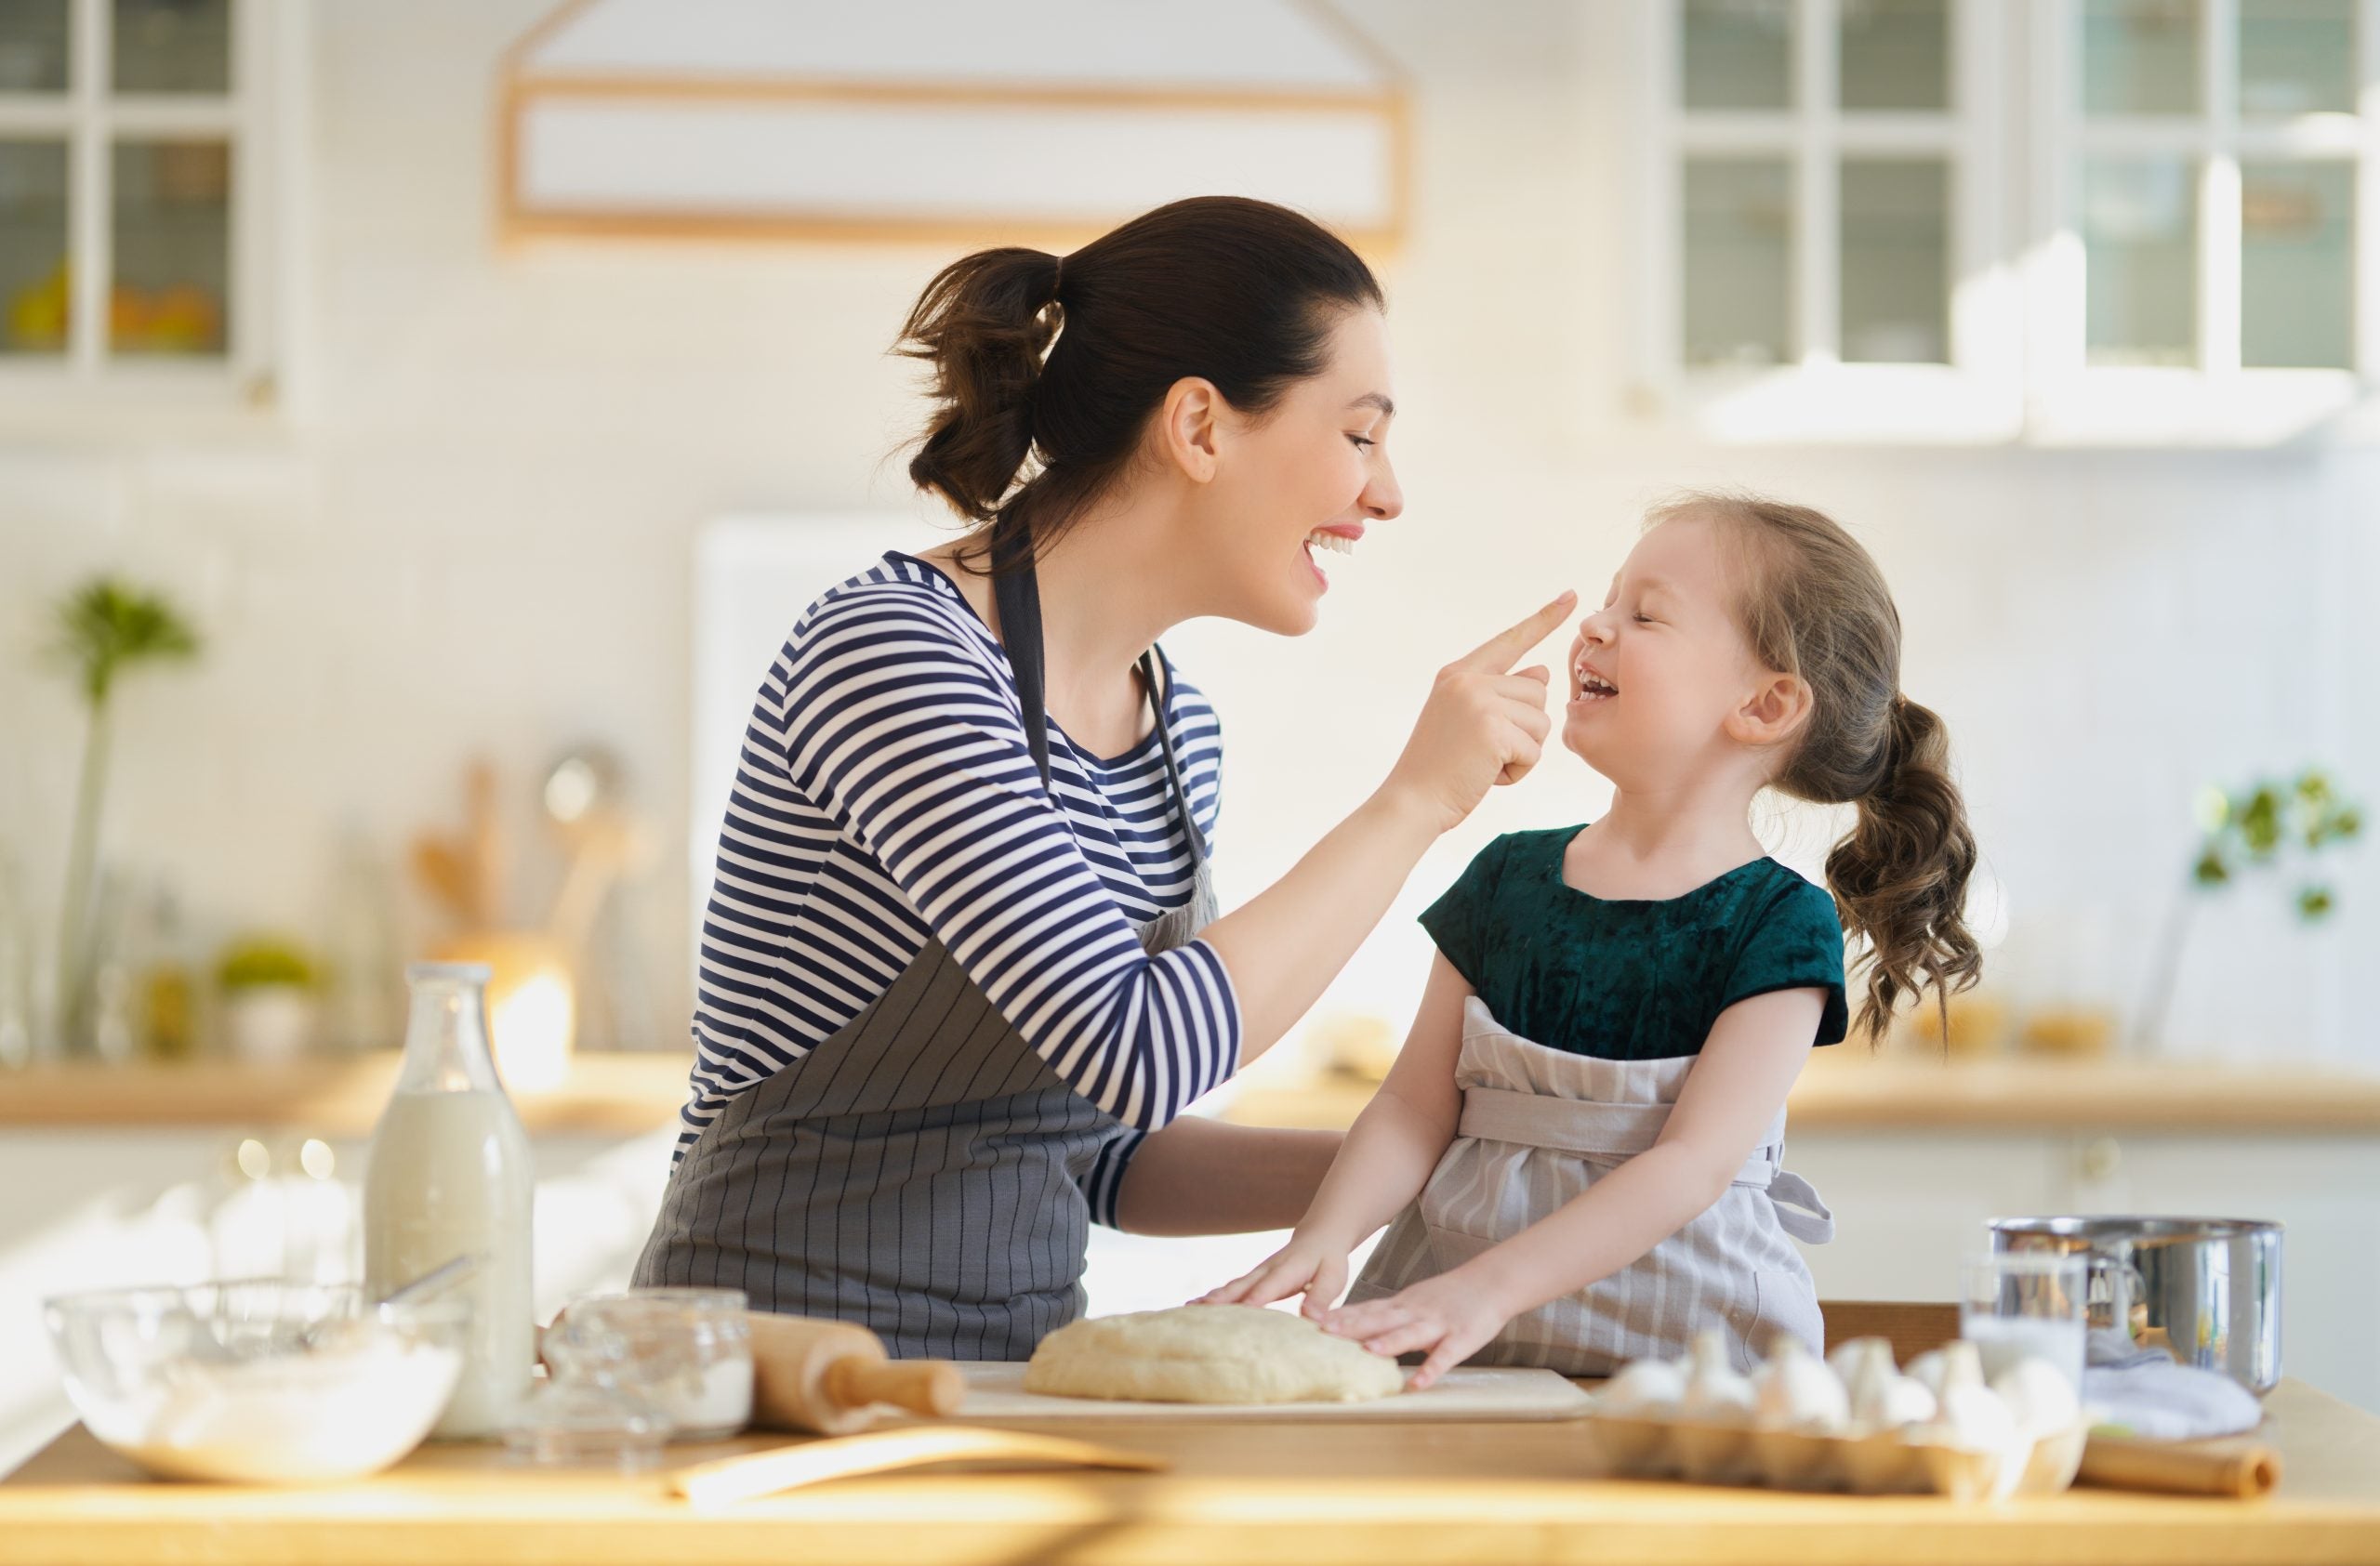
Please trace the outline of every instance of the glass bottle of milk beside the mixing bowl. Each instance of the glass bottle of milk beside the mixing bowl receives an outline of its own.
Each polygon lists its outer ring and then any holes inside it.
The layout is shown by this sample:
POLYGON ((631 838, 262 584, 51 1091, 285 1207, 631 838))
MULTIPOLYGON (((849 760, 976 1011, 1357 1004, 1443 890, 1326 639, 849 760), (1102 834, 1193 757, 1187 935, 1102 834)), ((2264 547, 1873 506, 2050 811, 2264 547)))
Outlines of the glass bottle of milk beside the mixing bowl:
POLYGON ((371 1133, 364 1171, 364 1285, 374 1297, 421 1273, 478 1257, 459 1295, 471 1335, 443 1440, 495 1435, 528 1392, 536 1316, 528 1292, 528 1133, 488 1054, 488 969, 416 961, 397 1090, 371 1133))

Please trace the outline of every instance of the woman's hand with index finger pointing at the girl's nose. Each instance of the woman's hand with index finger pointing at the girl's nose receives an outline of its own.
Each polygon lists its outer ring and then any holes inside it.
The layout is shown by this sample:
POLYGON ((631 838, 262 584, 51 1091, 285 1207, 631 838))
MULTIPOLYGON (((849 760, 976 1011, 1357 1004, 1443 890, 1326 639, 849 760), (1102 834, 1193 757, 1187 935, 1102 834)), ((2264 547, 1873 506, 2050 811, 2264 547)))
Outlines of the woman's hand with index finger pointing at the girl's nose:
POLYGON ((1521 671, 1511 664, 1568 619, 1576 602, 1576 593, 1564 593, 1440 669, 1380 793, 1411 800, 1442 833, 1468 816, 1492 785, 1528 776, 1552 731, 1545 712, 1552 676, 1545 664, 1521 671))

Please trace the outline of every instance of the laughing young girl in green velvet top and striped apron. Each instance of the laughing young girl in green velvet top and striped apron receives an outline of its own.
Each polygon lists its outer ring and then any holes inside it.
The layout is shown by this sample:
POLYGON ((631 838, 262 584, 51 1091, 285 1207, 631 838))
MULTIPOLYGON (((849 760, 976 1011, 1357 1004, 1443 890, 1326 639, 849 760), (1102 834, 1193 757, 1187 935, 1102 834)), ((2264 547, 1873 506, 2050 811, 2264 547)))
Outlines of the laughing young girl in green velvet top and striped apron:
POLYGON ((1304 1295, 1333 1333, 1423 1354, 1416 1388, 1466 1359, 1604 1376, 1704 1328, 1742 1368, 1775 1333, 1818 1349, 1787 1235, 1833 1216, 1778 1157, 1802 1061, 1847 1031, 1844 931, 1871 1040, 1980 969, 1975 840, 1899 664, 1875 562, 1818 512, 1654 512, 1571 645, 1561 743, 1611 809, 1497 838, 1421 916, 1438 959, 1388 1083, 1290 1242, 1207 1299, 1304 1295), (1764 788, 1859 807, 1833 897, 1761 852, 1764 788))

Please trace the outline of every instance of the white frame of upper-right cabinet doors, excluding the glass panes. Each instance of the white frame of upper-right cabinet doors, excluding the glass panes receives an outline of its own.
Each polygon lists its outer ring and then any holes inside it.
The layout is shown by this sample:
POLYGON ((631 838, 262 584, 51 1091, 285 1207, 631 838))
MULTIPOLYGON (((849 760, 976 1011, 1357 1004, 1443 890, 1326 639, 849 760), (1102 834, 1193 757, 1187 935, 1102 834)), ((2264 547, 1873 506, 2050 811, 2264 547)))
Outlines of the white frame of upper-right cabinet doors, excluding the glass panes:
MULTIPOLYGON (((2356 112, 2280 121, 2237 112, 2240 0, 2202 0, 2204 107, 2190 117, 2085 117, 2082 0, 1952 0, 1949 126, 1844 112, 1837 0, 1795 5, 1795 107, 1683 107, 1683 0, 1635 7, 1635 376, 1626 409, 1718 440, 2275 445, 2380 440, 2380 0, 2356 0, 2356 112), (1844 364, 1835 352, 1840 159, 1944 145, 1952 167, 1952 364, 1844 364), (1690 367, 1683 345, 1683 159, 1780 155, 1795 190, 1787 364, 1690 367), (2087 364, 2075 209, 2097 152, 2199 162, 2199 364, 2087 364), (2280 155, 2354 167, 2351 367, 2240 364, 2240 162, 2280 155)), ((1933 117, 1925 117, 1933 119, 1933 117)))

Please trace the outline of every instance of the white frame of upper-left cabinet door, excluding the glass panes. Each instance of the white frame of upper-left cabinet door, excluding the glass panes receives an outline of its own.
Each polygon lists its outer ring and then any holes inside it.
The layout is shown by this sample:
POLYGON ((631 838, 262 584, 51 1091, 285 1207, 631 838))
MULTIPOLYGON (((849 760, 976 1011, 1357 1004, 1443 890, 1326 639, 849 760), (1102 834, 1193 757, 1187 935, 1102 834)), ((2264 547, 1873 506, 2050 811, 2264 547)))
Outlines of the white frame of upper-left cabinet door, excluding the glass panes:
POLYGON ((0 136, 67 143, 69 321, 62 355, 0 357, 0 412, 21 424, 38 414, 76 416, 126 402, 176 409, 267 409, 278 400, 276 364, 286 340, 283 295, 293 276, 288 228, 274 221, 295 188, 298 150, 283 131, 290 76, 278 59, 295 45, 302 5, 231 0, 231 90, 114 93, 112 0, 69 0, 64 93, 0 93, 0 136), (112 148, 121 138, 221 138, 231 150, 228 324, 221 355, 171 359, 114 355, 107 345, 112 288, 112 148))

